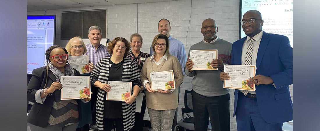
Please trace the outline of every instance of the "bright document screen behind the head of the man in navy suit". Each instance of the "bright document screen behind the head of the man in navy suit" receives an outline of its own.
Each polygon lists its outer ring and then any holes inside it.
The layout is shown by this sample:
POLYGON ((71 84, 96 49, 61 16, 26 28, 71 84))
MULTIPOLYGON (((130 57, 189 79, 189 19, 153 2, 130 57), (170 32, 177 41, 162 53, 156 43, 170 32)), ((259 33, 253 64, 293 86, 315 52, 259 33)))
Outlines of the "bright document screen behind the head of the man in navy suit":
MULTIPOLYGON (((292 46, 292 3, 293 0, 242 0, 240 20, 245 12, 257 10, 264 21, 262 30, 288 37, 292 46)), ((241 37, 245 36, 241 28, 241 37)))

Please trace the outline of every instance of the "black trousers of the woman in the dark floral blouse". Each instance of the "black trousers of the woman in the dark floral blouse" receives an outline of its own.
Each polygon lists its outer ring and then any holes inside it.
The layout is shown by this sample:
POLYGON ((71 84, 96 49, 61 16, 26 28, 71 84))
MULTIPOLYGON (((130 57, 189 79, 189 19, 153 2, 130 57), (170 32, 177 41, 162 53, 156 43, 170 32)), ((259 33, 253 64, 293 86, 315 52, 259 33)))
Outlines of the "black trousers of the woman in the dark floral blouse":
POLYGON ((146 107, 147 107, 146 100, 142 99, 141 111, 140 113, 136 112, 132 131, 142 131, 142 128, 144 126, 143 117, 144 117, 144 113, 146 112, 146 107))

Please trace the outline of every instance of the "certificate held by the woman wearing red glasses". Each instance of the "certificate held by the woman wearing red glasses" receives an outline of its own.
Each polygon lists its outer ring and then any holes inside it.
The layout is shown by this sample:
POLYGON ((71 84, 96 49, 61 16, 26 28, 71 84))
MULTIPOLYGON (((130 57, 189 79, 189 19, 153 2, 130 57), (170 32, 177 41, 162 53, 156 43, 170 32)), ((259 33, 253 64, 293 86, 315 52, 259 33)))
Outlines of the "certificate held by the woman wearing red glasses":
POLYGON ((91 98, 90 76, 61 76, 60 100, 91 98))

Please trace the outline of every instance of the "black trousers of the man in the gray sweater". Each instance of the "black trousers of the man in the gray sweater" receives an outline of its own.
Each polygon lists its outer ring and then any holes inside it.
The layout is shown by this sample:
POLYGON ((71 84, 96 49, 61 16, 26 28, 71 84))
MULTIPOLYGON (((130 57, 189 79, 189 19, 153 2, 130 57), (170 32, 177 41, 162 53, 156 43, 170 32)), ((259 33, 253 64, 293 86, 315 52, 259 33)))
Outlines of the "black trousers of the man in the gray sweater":
POLYGON ((230 131, 230 94, 206 97, 191 90, 195 131, 206 131, 209 116, 212 131, 230 131))

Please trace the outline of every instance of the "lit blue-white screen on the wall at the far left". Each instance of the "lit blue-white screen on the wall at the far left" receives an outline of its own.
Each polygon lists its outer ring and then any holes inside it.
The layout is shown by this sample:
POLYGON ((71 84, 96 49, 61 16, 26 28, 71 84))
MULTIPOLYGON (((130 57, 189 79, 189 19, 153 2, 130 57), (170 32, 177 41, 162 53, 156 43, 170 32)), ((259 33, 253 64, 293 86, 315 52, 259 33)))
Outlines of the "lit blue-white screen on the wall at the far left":
POLYGON ((44 66, 45 51, 55 45, 56 15, 28 15, 27 29, 27 74, 32 74, 32 70, 44 66))

